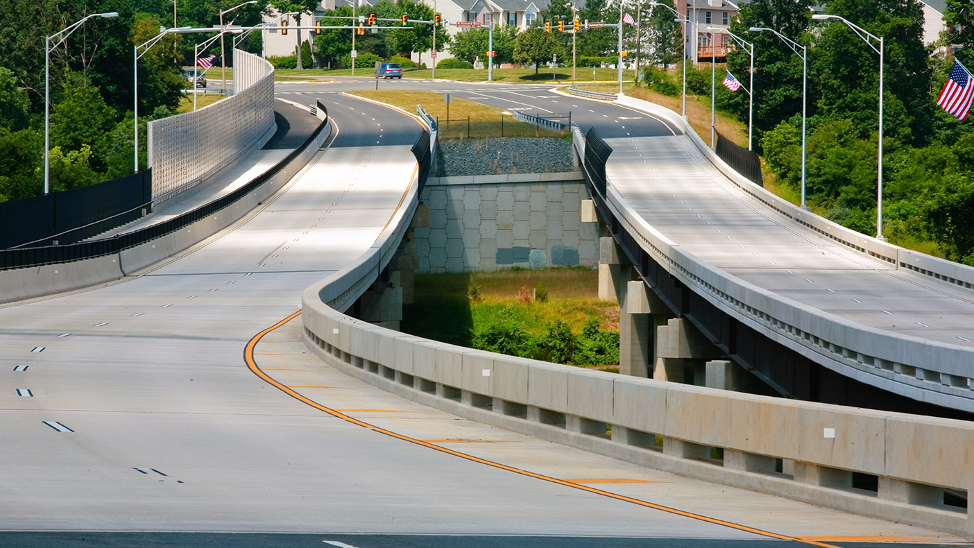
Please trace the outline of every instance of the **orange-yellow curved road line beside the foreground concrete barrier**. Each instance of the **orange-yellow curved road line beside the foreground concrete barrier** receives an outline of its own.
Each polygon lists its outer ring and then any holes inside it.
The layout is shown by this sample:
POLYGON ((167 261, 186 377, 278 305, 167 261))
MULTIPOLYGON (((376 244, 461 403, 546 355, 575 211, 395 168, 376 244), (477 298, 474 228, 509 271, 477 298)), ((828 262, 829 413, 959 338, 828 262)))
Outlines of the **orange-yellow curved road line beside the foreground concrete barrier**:
POLYGON ((527 470, 521 470, 519 468, 514 468, 513 466, 507 466, 506 464, 501 464, 500 462, 495 462, 493 460, 487 460, 485 458, 480 458, 480 457, 473 457, 471 455, 467 455, 466 453, 460 453, 459 451, 454 451, 452 449, 447 449, 445 447, 440 447, 438 445, 433 445, 433 444, 431 444, 429 442, 424 442, 423 440, 418 440, 416 438, 410 438, 409 436, 405 436, 405 435, 402 435, 402 434, 395 433, 392 430, 387 430, 385 428, 380 428, 380 427, 375 426, 373 424, 369 424, 368 422, 364 422, 362 420, 357 420, 355 418, 349 417, 348 415, 344 415, 339 410, 325 407, 325 406, 319 404, 318 402, 316 402, 316 401, 314 401, 312 399, 309 399, 309 398, 301 395, 300 393, 292 390, 291 388, 288 388, 287 386, 285 386, 285 385, 283 385, 281 383, 278 383, 277 381, 275 381, 274 379, 272 379, 269 375, 267 375, 266 373, 264 373, 264 370, 263 369, 261 369, 260 367, 257 366, 257 362, 253 358, 253 348, 257 346, 257 343, 260 342, 261 338, 263 338, 268 333, 270 333, 270 332, 272 332, 272 331, 280 328, 282 325, 284 325, 288 321, 294 319, 295 317, 297 317, 300 314, 301 314, 301 311, 296 311, 293 314, 285 317, 284 319, 282 319, 278 323, 272 325, 271 327, 268 327, 268 328, 264 329, 263 331, 261 331, 260 333, 258 333, 256 335, 254 335, 253 338, 250 339, 247 342, 246 346, 244 347, 244 362, 246 363, 247 368, 250 369, 250 371, 254 375, 256 375, 258 378, 262 379, 265 383, 271 384, 271 385, 277 387, 282 392, 284 392, 285 394, 291 396, 292 398, 294 398, 294 399, 296 399, 296 400, 298 400, 298 401, 300 401, 302 403, 305 403, 307 405, 310 405, 311 407, 314 407, 315 409, 318 409, 318 411, 321 411, 323 413, 326 413, 328 415, 331 415, 332 417, 335 417, 336 419, 346 420, 346 421, 351 422, 353 424, 356 424, 358 426, 362 426, 363 428, 369 428, 371 430, 375 430, 376 432, 381 432, 383 434, 386 434, 387 436, 393 437, 395 439, 402 440, 402 441, 409 442, 409 443, 413 443, 413 444, 416 444, 416 445, 419 445, 419 446, 423 446, 423 447, 429 448, 429 449, 431 449, 433 451, 438 451, 440 453, 445 453, 445 454, 451 455, 453 457, 465 458, 465 459, 467 459, 467 460, 469 460, 471 462, 477 462, 477 463, 480 463, 480 464, 485 464, 487 466, 492 466, 492 467, 498 468, 500 470, 506 470, 508 472, 513 472, 515 474, 520 474, 522 476, 527 476, 529 478, 535 478, 535 479, 538 479, 538 480, 543 480, 545 482, 550 482, 550 483, 553 483, 553 484, 557 484, 557 485, 561 485, 561 486, 565 486, 565 487, 570 487, 570 488, 573 488, 573 489, 578 489, 578 490, 581 490, 581 491, 584 491, 584 492, 587 492, 587 493, 600 494, 600 495, 606 496, 608 498, 613 498, 613 499, 616 499, 616 500, 621 500, 623 502, 630 502, 630 503, 636 504, 638 506, 643 506, 643 507, 646 507, 646 508, 652 508, 654 510, 659 510, 661 512, 667 512, 669 514, 674 514, 676 516, 683 516, 683 517, 686 517, 686 518, 691 518, 693 520, 698 520, 698 521, 701 521, 701 522, 706 522, 706 523, 709 523, 709 524, 714 524, 714 525, 717 525, 717 526, 722 526, 722 527, 730 528, 732 530, 741 530, 741 531, 744 531, 744 532, 751 532, 751 533, 758 534, 758 535, 761 535, 761 536, 767 536, 769 538, 777 538, 779 540, 794 540, 794 541, 801 542, 803 544, 810 544, 812 546, 821 546, 822 548, 842 548, 842 547, 836 546, 834 544, 827 544, 827 543, 819 542, 819 541, 813 540, 813 539, 797 538, 797 537, 794 537, 794 536, 788 536, 788 535, 785 535, 785 534, 779 534, 779 533, 776 533, 776 532, 771 532, 769 530, 760 530, 760 529, 756 529, 756 528, 742 526, 740 524, 735 524, 735 523, 732 523, 732 522, 728 522, 728 521, 724 521, 724 520, 719 520, 717 518, 709 518, 707 516, 702 516, 700 514, 694 514, 693 512, 687 512, 685 510, 678 510, 676 508, 671 508, 669 506, 663 506, 661 504, 656 504, 654 502, 648 502, 646 500, 641 500, 639 498, 633 498, 631 496, 624 496, 624 495, 617 494, 617 493, 611 493, 611 492, 608 492, 608 491, 602 491, 600 489, 595 489, 593 487, 588 487, 588 486, 580 485, 580 484, 574 484, 574 483, 572 483, 572 482, 570 482, 568 480, 560 480, 558 478, 552 478, 551 476, 545 476, 543 474, 537 474, 535 472, 529 472, 527 470))

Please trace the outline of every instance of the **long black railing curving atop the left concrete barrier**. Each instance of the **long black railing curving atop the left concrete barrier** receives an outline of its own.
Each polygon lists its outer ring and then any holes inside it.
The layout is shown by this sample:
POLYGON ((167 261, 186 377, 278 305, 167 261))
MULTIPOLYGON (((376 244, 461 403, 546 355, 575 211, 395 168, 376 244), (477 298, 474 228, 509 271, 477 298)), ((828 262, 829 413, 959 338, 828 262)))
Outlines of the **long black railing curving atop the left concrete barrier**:
POLYGON ((164 237, 170 233, 179 231, 200 219, 208 217, 221 209, 224 209, 236 201, 241 200, 247 194, 253 192, 258 187, 275 177, 287 164, 294 161, 307 148, 324 128, 328 125, 328 109, 318 101, 318 109, 324 112, 324 121, 318 125, 312 134, 305 139, 300 147, 293 150, 281 162, 271 167, 263 174, 245 184, 243 187, 233 191, 215 201, 211 201, 192 211, 187 211, 178 217, 173 217, 168 221, 139 229, 127 234, 117 235, 101 239, 79 241, 65 245, 45 245, 38 247, 21 247, 17 249, 0 249, 0 270, 22 269, 29 267, 40 267, 43 265, 53 265, 57 263, 68 263, 95 257, 113 255, 125 249, 131 249, 147 241, 164 237))

